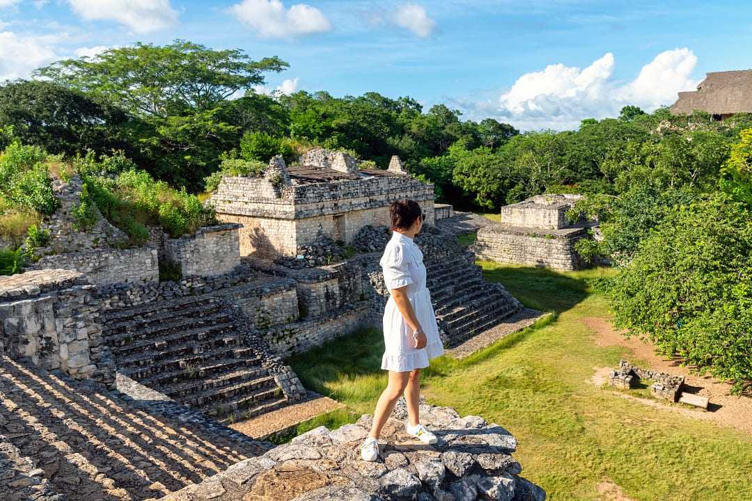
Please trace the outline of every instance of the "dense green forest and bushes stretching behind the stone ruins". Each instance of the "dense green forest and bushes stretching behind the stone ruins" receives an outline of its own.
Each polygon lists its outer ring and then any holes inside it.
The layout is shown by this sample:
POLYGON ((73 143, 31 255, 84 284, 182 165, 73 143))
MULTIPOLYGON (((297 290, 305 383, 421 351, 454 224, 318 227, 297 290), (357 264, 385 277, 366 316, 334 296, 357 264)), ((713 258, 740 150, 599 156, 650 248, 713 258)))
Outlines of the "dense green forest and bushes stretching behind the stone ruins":
POLYGON ((259 172, 272 155, 295 161, 325 146, 381 168, 399 155, 461 209, 587 195, 572 216, 599 218, 604 238, 578 250, 619 267, 602 284, 617 323, 739 390, 752 379, 752 115, 715 122, 627 106, 577 131, 520 133, 410 97, 255 92, 287 66, 178 40, 63 60, 2 84, 0 232, 27 250, 41 245, 35 222, 55 207, 50 166, 84 180, 83 231, 96 204, 138 244, 149 222, 172 235, 210 222, 196 194, 223 172, 259 172))

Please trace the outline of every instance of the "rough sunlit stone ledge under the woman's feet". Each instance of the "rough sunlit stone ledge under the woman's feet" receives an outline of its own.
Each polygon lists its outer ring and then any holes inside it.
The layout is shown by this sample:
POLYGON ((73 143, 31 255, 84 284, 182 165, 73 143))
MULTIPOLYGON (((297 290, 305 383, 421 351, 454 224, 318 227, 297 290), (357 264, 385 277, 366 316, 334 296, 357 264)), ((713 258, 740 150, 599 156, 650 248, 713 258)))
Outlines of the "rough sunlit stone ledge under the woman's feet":
POLYGON ((433 446, 405 433, 398 405, 381 437, 378 461, 360 459, 371 416, 338 430, 318 427, 262 456, 230 466, 161 501, 544 501, 541 487, 520 476, 517 440, 498 424, 450 407, 421 404, 421 418, 438 436, 433 446))

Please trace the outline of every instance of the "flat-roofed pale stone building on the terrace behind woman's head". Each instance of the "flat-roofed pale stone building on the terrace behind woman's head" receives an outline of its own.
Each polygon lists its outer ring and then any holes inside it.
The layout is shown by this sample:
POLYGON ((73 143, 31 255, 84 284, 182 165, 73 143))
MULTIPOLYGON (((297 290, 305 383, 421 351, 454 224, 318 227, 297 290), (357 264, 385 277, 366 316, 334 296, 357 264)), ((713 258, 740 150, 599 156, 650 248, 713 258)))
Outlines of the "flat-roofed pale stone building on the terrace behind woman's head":
POLYGON ((395 169, 359 170, 350 155, 324 149, 290 167, 277 156, 262 177, 224 177, 211 204, 220 221, 243 225, 241 255, 294 257, 322 232, 347 244, 365 225, 388 225, 399 199, 417 201, 433 224, 433 186, 395 169))

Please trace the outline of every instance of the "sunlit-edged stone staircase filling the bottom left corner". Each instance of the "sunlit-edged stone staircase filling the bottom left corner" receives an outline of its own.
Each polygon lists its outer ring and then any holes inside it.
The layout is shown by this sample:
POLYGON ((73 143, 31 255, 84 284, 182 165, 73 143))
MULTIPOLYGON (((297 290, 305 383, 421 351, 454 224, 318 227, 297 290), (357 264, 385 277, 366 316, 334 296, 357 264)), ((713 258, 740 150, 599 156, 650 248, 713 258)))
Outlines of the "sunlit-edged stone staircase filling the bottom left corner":
POLYGON ((167 401, 0 358, 0 499, 142 501, 268 450, 167 401))

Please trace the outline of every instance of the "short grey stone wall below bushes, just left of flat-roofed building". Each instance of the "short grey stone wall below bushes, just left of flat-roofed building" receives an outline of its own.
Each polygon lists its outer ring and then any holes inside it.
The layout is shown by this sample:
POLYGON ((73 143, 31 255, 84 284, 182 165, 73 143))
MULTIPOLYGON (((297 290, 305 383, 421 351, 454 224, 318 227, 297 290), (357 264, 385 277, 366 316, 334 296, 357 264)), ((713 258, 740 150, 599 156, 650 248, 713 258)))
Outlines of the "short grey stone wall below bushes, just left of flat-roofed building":
POLYGON ((240 228, 238 224, 199 228, 193 237, 165 241, 160 258, 179 266, 183 276, 228 273, 240 264, 240 228))

